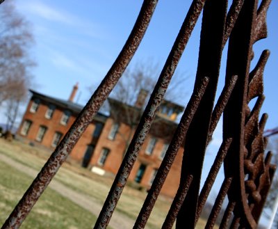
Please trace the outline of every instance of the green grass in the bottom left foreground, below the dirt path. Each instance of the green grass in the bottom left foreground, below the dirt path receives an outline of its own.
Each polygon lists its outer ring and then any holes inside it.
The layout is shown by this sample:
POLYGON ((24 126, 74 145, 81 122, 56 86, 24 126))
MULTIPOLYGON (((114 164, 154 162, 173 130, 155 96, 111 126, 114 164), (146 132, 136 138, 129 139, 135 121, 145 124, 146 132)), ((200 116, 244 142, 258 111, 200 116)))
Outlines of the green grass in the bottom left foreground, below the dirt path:
MULTIPOLYGON (((0 223, 13 210, 33 180, 17 169, 0 163, 0 223)), ((96 217, 56 191, 47 189, 28 215, 22 228, 92 228, 96 217)))

